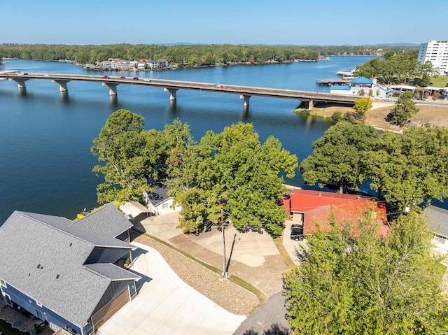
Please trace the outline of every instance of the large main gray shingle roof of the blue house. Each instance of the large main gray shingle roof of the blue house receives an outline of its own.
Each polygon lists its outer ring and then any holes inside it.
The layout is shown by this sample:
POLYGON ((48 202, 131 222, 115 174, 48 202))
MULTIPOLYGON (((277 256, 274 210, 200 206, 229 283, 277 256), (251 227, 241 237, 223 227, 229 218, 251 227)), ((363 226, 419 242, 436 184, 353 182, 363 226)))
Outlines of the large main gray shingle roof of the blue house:
POLYGON ((0 278, 83 327, 111 280, 123 277, 113 264, 97 266, 96 271, 90 264, 87 269, 85 259, 98 245, 121 248, 123 255, 135 248, 116 238, 77 230, 72 223, 50 215, 11 214, 0 227, 0 278))

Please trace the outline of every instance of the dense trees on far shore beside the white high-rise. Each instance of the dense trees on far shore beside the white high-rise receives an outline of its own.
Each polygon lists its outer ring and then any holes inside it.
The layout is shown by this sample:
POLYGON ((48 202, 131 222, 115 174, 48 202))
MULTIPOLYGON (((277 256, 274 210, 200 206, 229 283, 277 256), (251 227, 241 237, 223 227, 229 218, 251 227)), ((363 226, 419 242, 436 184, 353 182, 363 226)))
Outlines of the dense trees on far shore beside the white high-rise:
POLYGON ((419 50, 397 52, 389 50, 379 58, 370 59, 356 67, 355 76, 377 78, 379 83, 405 84, 426 87, 431 77, 438 76, 431 62, 421 64, 418 60, 419 50))

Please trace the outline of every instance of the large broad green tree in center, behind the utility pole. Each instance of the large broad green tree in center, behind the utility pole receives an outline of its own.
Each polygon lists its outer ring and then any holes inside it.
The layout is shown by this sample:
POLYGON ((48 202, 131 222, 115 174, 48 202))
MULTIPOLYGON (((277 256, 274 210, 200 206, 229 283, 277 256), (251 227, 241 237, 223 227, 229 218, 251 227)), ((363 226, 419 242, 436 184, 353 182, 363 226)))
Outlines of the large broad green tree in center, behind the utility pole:
POLYGON ((174 201, 182 206, 180 226, 200 232, 209 224, 232 220, 238 229, 266 228, 281 234, 284 211, 277 206, 284 171, 292 178, 297 157, 269 137, 261 144, 251 124, 208 131, 195 145, 176 149, 170 160, 174 201), (176 153, 177 152, 177 153, 176 153))

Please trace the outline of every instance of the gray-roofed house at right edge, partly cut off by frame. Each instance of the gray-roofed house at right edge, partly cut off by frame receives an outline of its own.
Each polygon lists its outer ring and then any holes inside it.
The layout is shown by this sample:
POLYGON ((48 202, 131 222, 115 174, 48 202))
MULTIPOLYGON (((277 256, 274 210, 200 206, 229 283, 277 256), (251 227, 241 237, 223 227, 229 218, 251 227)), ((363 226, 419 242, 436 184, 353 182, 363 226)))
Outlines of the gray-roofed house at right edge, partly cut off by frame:
POLYGON ((431 205, 424 209, 423 215, 434 234, 431 241, 434 249, 446 254, 448 252, 448 211, 431 205))

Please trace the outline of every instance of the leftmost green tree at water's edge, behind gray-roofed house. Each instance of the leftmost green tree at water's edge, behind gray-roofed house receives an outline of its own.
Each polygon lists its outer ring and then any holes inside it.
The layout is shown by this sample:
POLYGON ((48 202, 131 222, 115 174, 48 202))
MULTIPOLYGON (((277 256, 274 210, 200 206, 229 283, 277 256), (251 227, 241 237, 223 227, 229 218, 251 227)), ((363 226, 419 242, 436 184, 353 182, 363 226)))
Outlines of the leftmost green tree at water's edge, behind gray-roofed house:
POLYGON ((148 178, 157 178, 160 159, 157 132, 144 131, 144 118, 125 109, 113 113, 94 139, 91 151, 99 164, 93 172, 104 175, 97 187, 98 202, 139 200, 148 190, 148 178))

